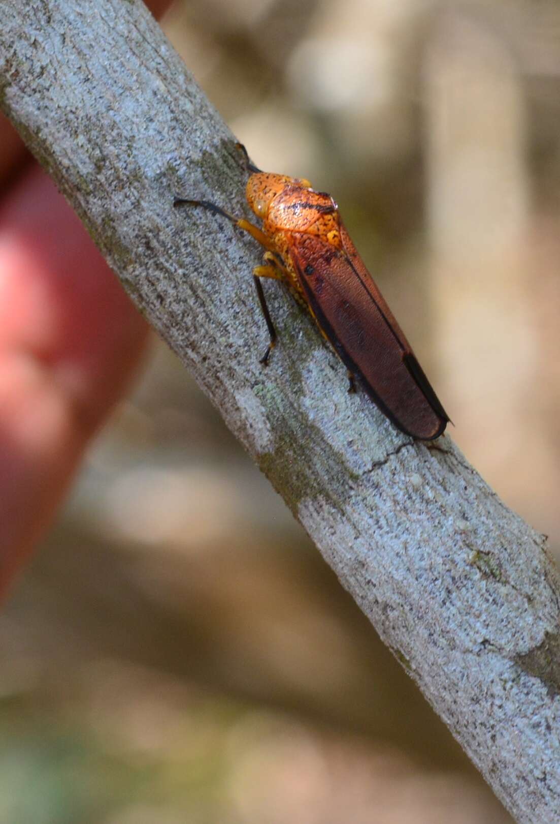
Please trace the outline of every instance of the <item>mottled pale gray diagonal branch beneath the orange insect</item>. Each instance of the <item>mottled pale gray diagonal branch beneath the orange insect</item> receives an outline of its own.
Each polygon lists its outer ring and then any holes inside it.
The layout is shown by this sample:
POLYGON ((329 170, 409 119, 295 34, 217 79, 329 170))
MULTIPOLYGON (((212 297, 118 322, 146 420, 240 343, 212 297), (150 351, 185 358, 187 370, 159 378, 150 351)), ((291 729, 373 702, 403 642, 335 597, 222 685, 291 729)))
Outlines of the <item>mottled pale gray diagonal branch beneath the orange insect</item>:
MULTIPOLYGON (((0 104, 133 297, 518 822, 560 816, 558 575, 448 436, 398 433, 254 241, 235 138, 138 0, 2 0, 0 104), (268 286, 268 284, 265 284, 268 286)), ((63 239, 61 239, 63 242, 63 239)))

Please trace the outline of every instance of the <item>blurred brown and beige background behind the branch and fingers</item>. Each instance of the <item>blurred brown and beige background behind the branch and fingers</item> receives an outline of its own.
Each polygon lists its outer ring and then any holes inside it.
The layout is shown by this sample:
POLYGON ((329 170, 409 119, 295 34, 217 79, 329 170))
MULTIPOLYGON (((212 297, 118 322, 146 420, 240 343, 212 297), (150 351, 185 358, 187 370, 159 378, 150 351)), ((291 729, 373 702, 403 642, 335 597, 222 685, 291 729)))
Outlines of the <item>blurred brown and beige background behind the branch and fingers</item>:
MULTIPOLYGON (((334 194, 451 437, 558 552, 558 4, 184 0, 164 26, 255 163, 334 194)), ((511 821, 156 340, 0 657, 2 824, 511 821)))

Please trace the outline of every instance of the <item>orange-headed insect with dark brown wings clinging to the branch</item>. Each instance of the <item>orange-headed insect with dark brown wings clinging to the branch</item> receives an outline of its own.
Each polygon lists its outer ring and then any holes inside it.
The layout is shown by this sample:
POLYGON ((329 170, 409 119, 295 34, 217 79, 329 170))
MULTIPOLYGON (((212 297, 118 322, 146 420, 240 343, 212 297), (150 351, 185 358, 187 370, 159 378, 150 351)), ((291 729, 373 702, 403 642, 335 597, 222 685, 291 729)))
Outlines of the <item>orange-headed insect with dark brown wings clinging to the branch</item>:
POLYGON ((249 160, 246 197, 262 228, 235 218, 205 200, 175 199, 175 206, 202 206, 231 220, 264 246, 264 263, 253 270, 268 326, 268 363, 277 334, 261 280, 287 284, 306 307, 348 369, 387 418, 413 438, 431 441, 450 420, 348 235, 330 194, 309 180, 260 171, 249 160))

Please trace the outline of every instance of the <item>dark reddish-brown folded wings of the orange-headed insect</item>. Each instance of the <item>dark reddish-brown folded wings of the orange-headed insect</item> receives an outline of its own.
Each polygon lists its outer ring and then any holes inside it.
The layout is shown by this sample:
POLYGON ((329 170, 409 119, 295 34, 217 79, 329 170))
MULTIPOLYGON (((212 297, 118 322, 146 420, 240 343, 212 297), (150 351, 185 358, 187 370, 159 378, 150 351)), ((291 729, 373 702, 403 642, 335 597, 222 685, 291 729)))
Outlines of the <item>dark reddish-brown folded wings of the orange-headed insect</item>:
POLYGON ((293 232, 290 254, 319 325, 346 367, 402 432, 432 440, 449 420, 379 289, 340 227, 343 251, 293 232))

